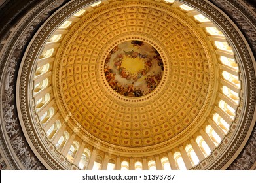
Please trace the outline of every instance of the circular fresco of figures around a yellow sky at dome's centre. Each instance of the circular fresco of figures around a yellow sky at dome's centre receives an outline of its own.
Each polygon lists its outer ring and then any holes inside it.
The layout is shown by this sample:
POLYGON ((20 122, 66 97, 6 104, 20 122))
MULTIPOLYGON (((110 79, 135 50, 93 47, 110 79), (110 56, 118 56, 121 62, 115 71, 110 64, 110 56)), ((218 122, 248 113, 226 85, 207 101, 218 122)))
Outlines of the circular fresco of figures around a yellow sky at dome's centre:
POLYGON ((164 65, 157 50, 143 41, 126 41, 109 52, 104 73, 109 86, 126 97, 141 97, 155 90, 164 65))

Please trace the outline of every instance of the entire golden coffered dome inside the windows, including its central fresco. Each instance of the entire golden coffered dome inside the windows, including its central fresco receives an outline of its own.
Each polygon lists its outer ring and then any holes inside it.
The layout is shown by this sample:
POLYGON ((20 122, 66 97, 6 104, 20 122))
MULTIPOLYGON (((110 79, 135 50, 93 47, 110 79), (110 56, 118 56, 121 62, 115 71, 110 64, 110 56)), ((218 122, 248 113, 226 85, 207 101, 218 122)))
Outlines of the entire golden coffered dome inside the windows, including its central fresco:
POLYGON ((185 16, 136 1, 96 8, 73 25, 56 86, 82 133, 142 147, 175 142, 200 124, 218 73, 209 44, 185 16))

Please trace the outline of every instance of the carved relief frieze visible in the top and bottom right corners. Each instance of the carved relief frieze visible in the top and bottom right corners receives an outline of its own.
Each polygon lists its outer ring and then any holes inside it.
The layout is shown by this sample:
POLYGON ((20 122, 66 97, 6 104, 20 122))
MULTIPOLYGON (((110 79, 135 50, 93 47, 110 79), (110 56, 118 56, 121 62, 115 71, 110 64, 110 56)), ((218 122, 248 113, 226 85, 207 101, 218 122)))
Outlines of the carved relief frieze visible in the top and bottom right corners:
MULTIPOLYGON (((252 46, 253 54, 256 53, 256 27, 253 22, 256 22, 255 16, 239 1, 223 1, 213 0, 221 10, 230 14, 230 18, 236 23, 240 30, 245 34, 247 41, 252 46)), ((255 82, 255 81, 254 81, 255 82)), ((251 169, 256 162, 256 127, 253 128, 251 136, 246 143, 246 146, 240 152, 238 158, 228 167, 228 169, 251 169)))

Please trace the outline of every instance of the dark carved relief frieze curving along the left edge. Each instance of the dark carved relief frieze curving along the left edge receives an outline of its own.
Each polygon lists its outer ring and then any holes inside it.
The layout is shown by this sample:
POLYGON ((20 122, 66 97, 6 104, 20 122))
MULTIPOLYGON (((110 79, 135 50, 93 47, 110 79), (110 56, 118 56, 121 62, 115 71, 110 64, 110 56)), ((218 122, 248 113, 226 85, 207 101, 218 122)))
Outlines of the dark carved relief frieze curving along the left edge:
MULTIPOLYGON (((12 33, 7 33, 5 39, 8 40, 5 50, 2 52, 1 67, 5 72, 1 75, 1 108, 3 108, 3 124, 1 124, 1 135, 5 138, 6 146, 3 149, 9 149, 13 154, 9 154, 9 163, 15 169, 45 169, 41 161, 37 159, 29 144, 26 142, 26 137, 20 127, 18 119, 16 102, 15 102, 15 87, 16 77, 20 66, 20 61, 26 45, 29 43, 33 33, 39 27, 41 22, 46 20, 51 14, 51 11, 59 7, 62 1, 54 3, 44 2, 31 12, 24 22, 16 25, 16 30, 12 33), (39 14, 41 12, 41 14, 39 14), (2 126, 3 125, 3 126, 2 126), (5 129, 3 129, 5 127, 5 129), (12 149, 12 150, 11 150, 12 149), (15 158, 14 158, 15 157, 15 158), (17 161, 18 160, 18 161, 17 161)), ((16 15, 15 15, 16 16, 16 15)), ((1 116, 2 118, 2 116, 1 116)), ((2 142, 2 141, 1 141, 2 142)))

